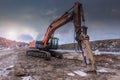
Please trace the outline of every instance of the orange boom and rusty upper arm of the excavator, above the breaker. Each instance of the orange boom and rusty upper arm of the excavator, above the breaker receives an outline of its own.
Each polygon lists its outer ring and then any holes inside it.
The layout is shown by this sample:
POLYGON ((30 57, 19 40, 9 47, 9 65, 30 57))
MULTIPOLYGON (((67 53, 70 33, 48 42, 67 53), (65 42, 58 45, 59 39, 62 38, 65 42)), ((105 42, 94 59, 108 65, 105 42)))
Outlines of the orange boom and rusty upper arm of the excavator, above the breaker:
POLYGON ((70 8, 62 16, 60 16, 58 19, 56 19, 51 23, 43 39, 44 47, 47 46, 49 39, 52 37, 52 34, 56 29, 58 29, 59 27, 62 27, 63 25, 65 25, 66 23, 72 20, 74 21, 75 31, 80 32, 81 20, 85 21, 85 19, 84 19, 82 4, 80 4, 79 2, 76 2, 72 8, 70 8))

